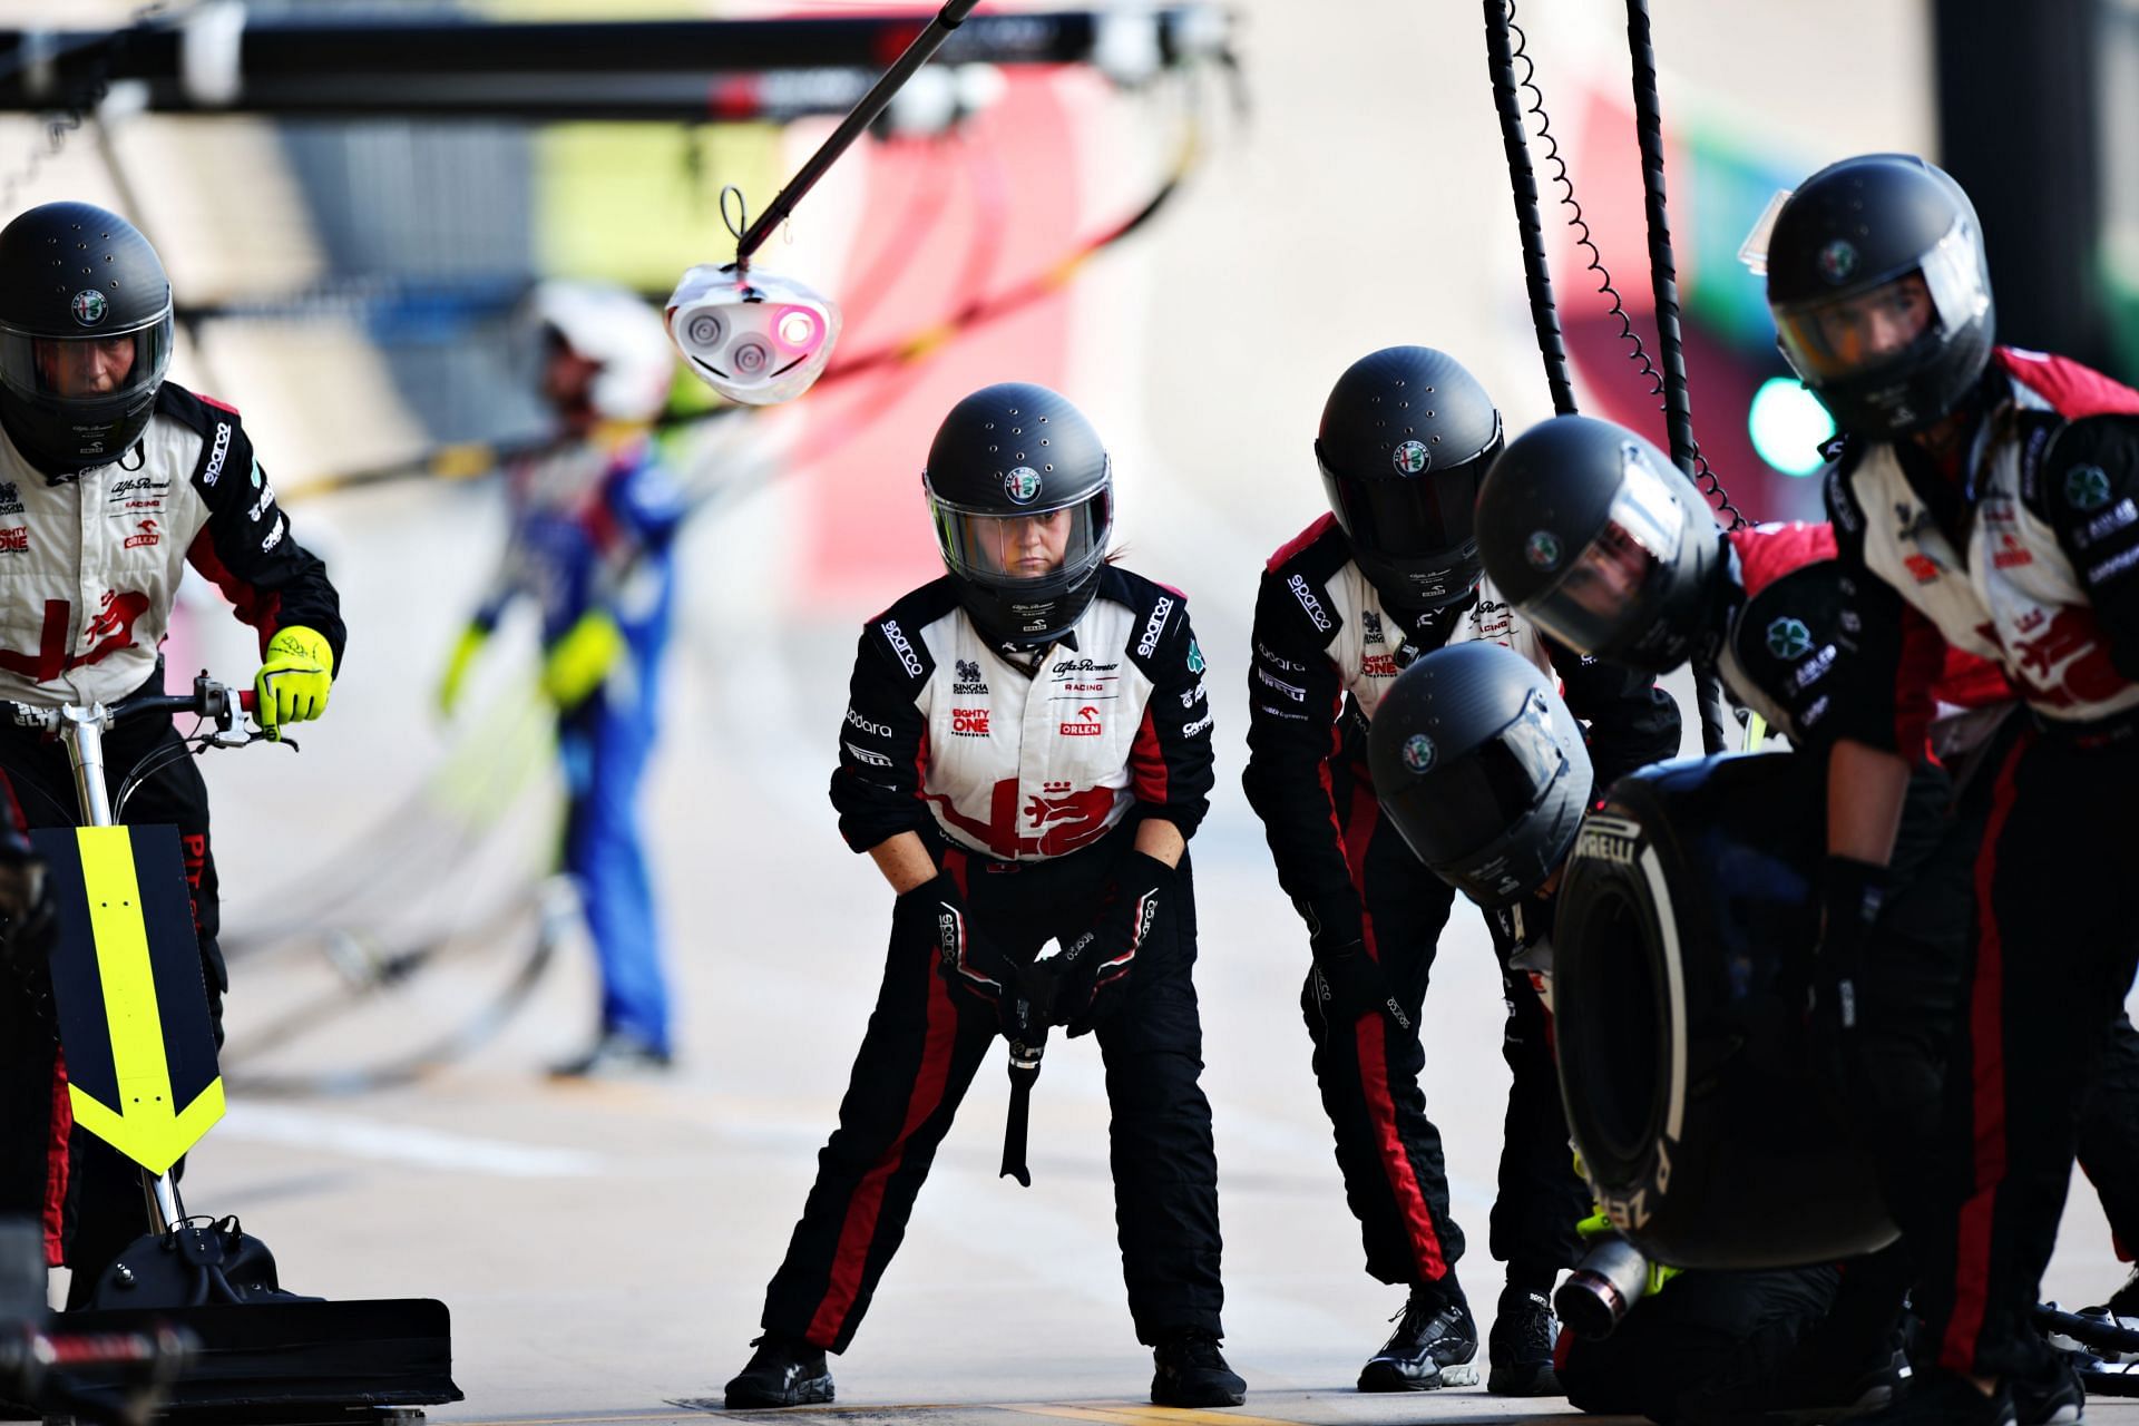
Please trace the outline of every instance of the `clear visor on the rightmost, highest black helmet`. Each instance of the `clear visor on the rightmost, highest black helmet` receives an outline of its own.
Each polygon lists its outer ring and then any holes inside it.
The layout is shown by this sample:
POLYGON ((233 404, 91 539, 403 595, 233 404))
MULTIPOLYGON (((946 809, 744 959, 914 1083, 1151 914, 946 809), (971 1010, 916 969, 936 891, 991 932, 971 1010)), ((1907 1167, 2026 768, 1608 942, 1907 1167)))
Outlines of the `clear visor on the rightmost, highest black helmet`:
POLYGON ((1867 286, 1775 308, 1775 336, 1790 366, 1814 387, 1906 372, 1919 353, 1989 310, 1974 248, 1955 227, 1923 263, 1867 286))

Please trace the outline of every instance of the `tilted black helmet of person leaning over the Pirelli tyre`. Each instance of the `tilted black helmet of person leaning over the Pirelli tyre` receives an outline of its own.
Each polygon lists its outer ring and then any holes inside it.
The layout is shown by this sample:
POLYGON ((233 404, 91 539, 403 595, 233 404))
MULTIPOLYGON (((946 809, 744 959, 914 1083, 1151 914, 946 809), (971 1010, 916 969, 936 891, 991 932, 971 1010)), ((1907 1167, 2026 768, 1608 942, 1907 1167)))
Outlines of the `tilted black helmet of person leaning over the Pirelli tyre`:
POLYGON ((1581 654, 1666 673, 1722 633, 1709 502, 1624 425, 1570 415, 1517 436, 1478 492, 1478 543, 1499 592, 1581 654))

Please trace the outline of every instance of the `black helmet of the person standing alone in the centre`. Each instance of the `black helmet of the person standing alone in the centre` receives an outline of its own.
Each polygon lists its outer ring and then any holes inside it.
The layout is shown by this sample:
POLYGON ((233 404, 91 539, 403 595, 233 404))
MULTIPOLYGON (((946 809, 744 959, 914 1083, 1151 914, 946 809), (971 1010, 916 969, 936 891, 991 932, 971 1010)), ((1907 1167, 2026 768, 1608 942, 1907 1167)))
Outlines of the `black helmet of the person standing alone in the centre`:
POLYGON ((1114 530, 1114 466, 1084 413, 1031 383, 982 387, 937 428, 922 487, 984 635, 1042 648, 1076 624, 1114 530))

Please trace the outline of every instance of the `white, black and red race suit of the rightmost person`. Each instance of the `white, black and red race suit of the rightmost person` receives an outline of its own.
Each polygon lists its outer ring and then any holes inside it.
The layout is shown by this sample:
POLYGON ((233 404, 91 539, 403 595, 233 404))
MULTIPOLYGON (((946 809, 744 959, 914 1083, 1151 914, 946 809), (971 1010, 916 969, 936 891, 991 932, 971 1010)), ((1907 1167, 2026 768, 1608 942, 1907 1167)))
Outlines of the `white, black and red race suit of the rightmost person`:
POLYGON ((1998 348, 1959 458, 1831 447, 1827 507, 1861 680, 1837 738, 1923 759, 1949 650, 1996 665, 2030 723, 1991 776, 1974 971, 1946 1071, 1944 1191, 1910 1225, 1914 1306, 1955 1373, 2026 1377, 2081 1092, 2139 964, 2139 391, 1998 348), (1955 1191, 1957 1184, 1957 1191, 1955 1191))

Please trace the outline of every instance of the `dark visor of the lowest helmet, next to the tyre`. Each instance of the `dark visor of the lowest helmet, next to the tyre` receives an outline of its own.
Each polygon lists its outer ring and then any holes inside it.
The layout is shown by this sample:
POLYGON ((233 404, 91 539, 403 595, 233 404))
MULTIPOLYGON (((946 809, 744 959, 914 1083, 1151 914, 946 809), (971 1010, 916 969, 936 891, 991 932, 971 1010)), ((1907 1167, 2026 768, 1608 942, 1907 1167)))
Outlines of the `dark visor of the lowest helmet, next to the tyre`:
POLYGON ((1508 727, 1448 763, 1433 761, 1425 733, 1412 733, 1399 753, 1407 768, 1431 774, 1399 797, 1403 838, 1431 868, 1463 862, 1508 836, 1568 768, 1544 695, 1536 691, 1508 727))

